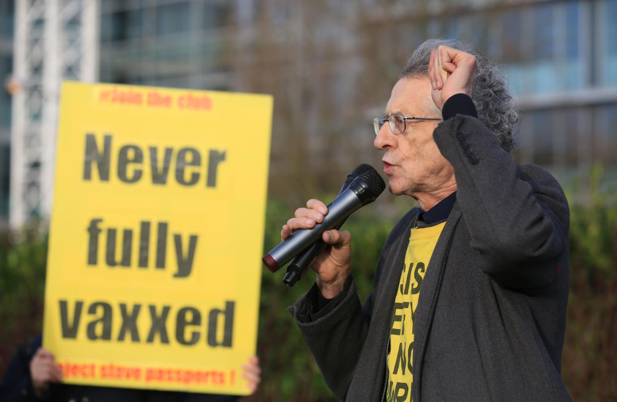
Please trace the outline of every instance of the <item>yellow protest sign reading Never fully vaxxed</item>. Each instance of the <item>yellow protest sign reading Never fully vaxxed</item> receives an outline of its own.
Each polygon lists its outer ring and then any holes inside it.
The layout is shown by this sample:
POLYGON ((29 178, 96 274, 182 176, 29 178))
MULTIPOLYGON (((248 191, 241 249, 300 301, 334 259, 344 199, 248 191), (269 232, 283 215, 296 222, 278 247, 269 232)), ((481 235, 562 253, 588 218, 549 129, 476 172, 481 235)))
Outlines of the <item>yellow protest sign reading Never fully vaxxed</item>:
POLYGON ((272 98, 62 85, 43 346, 64 382, 249 393, 272 98))

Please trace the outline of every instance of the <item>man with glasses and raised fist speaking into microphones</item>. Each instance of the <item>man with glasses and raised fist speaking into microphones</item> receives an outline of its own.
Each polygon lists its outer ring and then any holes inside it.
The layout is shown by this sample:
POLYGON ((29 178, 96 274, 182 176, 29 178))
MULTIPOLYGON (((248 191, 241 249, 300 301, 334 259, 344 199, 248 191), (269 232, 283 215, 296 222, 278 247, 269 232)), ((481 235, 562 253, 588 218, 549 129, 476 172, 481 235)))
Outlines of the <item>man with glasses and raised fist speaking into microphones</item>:
MULTIPOLYGON (((564 401, 566 198, 511 157, 518 112, 497 66, 458 41, 409 57, 375 147, 394 195, 418 203, 395 225, 358 299, 352 235, 328 230, 313 288, 289 311, 329 388, 346 401, 564 401)), ((323 222, 316 199, 281 238, 323 222)))

